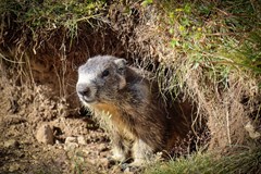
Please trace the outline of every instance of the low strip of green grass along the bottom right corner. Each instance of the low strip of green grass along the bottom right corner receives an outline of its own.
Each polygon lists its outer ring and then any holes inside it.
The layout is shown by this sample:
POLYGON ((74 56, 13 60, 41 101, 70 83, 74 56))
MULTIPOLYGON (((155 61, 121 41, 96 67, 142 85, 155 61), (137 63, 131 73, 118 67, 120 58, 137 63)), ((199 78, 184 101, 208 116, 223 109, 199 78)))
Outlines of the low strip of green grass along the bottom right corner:
POLYGON ((234 174, 260 173, 261 149, 244 150, 234 154, 195 153, 146 170, 146 174, 234 174))

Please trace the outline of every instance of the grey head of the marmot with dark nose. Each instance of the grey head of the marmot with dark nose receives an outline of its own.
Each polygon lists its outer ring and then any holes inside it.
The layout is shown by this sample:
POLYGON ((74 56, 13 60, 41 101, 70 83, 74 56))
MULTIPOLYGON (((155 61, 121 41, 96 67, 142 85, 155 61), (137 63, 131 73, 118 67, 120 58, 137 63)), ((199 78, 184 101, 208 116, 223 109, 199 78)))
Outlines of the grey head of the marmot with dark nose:
POLYGON ((110 102, 126 86, 126 60, 97 55, 78 69, 76 91, 84 104, 110 102))

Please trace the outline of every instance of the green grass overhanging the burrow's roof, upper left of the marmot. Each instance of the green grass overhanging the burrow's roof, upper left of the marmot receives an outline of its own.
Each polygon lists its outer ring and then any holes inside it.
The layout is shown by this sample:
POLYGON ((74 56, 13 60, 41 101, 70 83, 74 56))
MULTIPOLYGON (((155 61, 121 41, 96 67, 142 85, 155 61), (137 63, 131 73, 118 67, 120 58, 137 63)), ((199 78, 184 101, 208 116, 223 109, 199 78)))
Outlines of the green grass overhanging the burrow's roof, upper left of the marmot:
MULTIPOLYGON (((7 29, 32 33, 34 41, 45 33, 67 29, 70 37, 78 33, 80 22, 95 25, 102 15, 104 0, 2 0, 0 13, 2 14, 1 34, 7 29)), ((29 35, 27 35, 28 37, 29 35)))

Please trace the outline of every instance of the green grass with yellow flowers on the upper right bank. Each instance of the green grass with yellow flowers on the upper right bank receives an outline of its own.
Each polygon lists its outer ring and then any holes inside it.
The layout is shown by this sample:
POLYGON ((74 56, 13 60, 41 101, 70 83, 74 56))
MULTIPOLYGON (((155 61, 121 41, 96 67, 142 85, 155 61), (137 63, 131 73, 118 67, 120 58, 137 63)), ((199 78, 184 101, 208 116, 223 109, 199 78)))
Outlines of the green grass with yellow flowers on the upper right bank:
POLYGON ((232 73, 260 76, 259 3, 245 0, 164 0, 154 3, 162 11, 160 28, 169 36, 167 47, 176 52, 172 62, 165 61, 175 70, 172 82, 165 78, 165 72, 159 72, 163 88, 175 92, 181 90, 178 88, 184 89, 186 73, 198 67, 203 69, 208 82, 220 84, 224 89, 232 73), (186 59, 186 63, 181 64, 182 59, 186 59))

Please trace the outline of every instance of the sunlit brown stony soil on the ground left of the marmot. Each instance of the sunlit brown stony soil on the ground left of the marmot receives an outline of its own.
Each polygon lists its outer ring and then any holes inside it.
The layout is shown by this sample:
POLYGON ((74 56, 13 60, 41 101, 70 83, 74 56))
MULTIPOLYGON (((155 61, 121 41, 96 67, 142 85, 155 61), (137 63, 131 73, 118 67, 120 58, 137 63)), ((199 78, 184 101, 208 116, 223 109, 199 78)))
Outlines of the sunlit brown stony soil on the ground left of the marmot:
POLYGON ((20 84, 0 72, 0 173, 121 173, 108 160, 107 133, 88 112, 72 109, 48 85, 20 84))

